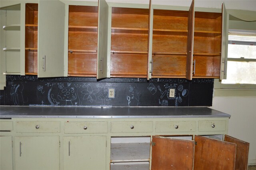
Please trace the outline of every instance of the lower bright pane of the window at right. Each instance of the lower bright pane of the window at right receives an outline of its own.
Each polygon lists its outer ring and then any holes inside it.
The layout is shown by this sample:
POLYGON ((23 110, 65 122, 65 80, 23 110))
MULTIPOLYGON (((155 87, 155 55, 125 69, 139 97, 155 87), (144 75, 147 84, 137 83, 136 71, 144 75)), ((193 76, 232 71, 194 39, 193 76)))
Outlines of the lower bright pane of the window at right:
POLYGON ((256 84, 256 62, 228 61, 227 79, 223 84, 256 84))

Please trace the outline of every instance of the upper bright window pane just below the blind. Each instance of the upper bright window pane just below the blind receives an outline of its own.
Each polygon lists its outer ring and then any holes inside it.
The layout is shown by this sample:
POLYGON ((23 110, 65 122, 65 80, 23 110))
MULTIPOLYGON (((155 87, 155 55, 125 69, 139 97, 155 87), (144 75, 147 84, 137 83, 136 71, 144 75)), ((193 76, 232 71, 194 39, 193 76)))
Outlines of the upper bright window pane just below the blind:
POLYGON ((228 58, 256 59, 256 46, 228 44, 228 58))

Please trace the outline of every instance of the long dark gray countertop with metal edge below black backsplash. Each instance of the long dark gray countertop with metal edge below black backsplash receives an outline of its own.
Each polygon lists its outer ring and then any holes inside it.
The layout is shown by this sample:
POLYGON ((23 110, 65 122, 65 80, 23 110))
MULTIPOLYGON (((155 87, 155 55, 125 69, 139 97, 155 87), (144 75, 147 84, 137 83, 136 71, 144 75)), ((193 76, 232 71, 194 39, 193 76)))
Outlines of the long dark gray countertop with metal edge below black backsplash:
POLYGON ((0 106, 0 118, 220 118, 208 107, 0 106))

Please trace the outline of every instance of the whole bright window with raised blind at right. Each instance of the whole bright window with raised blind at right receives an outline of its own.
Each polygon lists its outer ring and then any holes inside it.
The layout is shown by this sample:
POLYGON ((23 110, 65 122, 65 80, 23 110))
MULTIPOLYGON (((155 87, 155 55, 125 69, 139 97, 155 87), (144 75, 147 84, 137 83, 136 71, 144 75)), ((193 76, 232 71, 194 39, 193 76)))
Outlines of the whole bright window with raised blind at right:
MULTIPOLYGON (((228 31, 227 79, 222 84, 256 84, 256 31, 228 31)), ((252 86, 250 86, 252 87, 252 86)))

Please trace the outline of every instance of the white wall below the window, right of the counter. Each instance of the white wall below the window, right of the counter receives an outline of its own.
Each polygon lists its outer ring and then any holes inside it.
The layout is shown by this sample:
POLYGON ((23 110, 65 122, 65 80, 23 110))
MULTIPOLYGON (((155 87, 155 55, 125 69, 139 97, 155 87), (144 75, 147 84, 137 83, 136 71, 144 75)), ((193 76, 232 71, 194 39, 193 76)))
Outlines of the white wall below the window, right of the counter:
POLYGON ((228 135, 250 143, 249 164, 256 164, 256 97, 214 97, 212 107, 231 115, 228 135))

